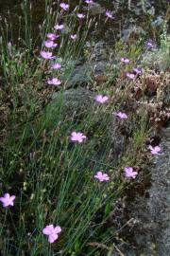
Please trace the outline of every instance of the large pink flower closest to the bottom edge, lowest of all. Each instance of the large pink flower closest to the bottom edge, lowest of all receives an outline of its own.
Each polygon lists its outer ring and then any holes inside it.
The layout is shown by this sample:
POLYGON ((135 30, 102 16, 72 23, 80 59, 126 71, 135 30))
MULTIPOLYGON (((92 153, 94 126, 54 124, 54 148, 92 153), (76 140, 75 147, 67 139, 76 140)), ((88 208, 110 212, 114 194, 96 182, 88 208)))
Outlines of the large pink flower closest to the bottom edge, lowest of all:
POLYGON ((58 237, 59 237, 59 233, 61 232, 61 229, 59 226, 57 226, 56 228, 54 227, 54 225, 48 225, 46 226, 44 229, 42 229, 42 234, 48 236, 48 242, 54 243, 58 237))

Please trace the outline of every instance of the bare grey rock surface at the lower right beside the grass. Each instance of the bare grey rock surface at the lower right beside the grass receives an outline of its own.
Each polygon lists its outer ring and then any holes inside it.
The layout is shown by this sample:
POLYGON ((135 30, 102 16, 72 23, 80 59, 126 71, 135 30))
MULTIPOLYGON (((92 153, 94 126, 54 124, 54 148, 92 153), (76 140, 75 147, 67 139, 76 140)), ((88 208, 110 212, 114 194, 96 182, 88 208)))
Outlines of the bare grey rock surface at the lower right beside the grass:
POLYGON ((161 149, 153 156, 151 187, 128 206, 135 255, 170 255, 170 127, 162 130, 161 149))

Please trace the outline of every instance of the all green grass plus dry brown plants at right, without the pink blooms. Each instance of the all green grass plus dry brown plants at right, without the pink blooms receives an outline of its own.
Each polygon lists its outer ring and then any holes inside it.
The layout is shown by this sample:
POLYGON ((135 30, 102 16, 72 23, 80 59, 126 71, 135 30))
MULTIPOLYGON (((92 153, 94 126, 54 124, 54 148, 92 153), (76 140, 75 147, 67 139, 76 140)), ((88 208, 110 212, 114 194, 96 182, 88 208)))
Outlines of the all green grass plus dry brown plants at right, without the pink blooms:
MULTIPOLYGON (((130 44, 118 40, 109 49, 113 62, 99 82, 93 74, 93 51, 86 46, 87 40, 92 45, 95 40, 90 35, 97 29, 96 18, 89 9, 78 18, 82 5, 68 13, 59 6, 54 10, 46 0, 37 37, 26 0, 17 32, 7 20, 1 23, 0 192, 1 198, 5 193, 16 196, 13 206, 0 209, 4 256, 120 253, 116 245, 123 228, 116 223, 115 205, 129 190, 139 191, 148 178, 148 145, 159 146, 149 137, 169 117, 164 99, 170 67, 167 17, 156 47, 145 45, 147 34, 130 44), (62 30, 54 28, 61 24, 62 30), (49 32, 59 34, 58 46, 50 50, 44 47, 49 32), (42 51, 57 57, 44 58, 42 51), (72 87, 69 81, 80 57, 88 65, 88 80, 72 87), (55 63, 61 67, 51 68, 55 63), (53 78, 61 83, 49 84, 53 78), (65 95, 79 87, 90 96, 77 96, 75 106, 65 95), (108 99, 96 101, 96 95, 108 99), (120 111, 126 119, 117 115, 120 111), (75 131, 86 139, 72 139, 75 131), (137 175, 127 176, 126 167, 137 175), (108 174, 109 180, 97 179, 97 172, 108 174), (42 233, 50 224, 61 229, 55 243, 42 233)), ((103 19, 106 26, 112 22, 109 16, 103 19)))

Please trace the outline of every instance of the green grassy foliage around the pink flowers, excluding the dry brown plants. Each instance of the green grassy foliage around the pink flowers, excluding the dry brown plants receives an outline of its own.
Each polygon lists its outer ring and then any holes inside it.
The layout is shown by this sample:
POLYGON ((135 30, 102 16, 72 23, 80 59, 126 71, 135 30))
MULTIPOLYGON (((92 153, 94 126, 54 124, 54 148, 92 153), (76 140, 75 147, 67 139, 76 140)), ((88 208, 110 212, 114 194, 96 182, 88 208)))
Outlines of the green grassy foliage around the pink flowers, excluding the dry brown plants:
MULTIPOLYGON (((63 86, 49 88, 46 78, 50 64, 33 52, 36 42, 32 42, 26 3, 24 1, 22 5, 26 27, 22 46, 8 44, 8 31, 0 38, 3 77, 0 89, 0 110, 3 111, 0 116, 0 192, 16 195, 14 207, 0 209, 0 250, 4 256, 109 256, 117 231, 115 227, 108 228, 110 216, 115 202, 130 186, 123 170, 125 166, 138 166, 148 130, 144 111, 134 114, 134 109, 129 110, 126 124, 113 116, 116 110, 126 109, 123 103, 129 101, 133 84, 125 81, 122 74, 141 57, 141 42, 131 46, 122 41, 115 44, 115 63, 107 70, 108 82, 101 86, 91 78, 88 65, 84 66, 86 72, 82 70, 76 74, 76 81, 72 81, 75 60, 84 49, 90 27, 87 19, 81 27, 80 40, 68 45, 69 35, 77 25, 75 17, 65 15, 63 22, 68 29, 60 36, 58 51, 62 69, 53 73, 61 76, 63 86), (119 65, 121 57, 131 60, 127 69, 119 65), (82 81, 87 86, 91 83, 94 91, 91 99, 88 96, 85 99, 85 89, 77 97, 75 91, 70 90, 75 101, 69 100, 65 88, 78 86, 82 81), (125 85, 123 89, 121 82, 125 85), (98 93, 104 90, 109 95, 109 103, 99 105, 92 100, 97 94, 96 88, 98 93), (73 131, 82 131, 88 137, 87 141, 71 143, 73 131), (110 175, 110 182, 100 183, 94 179, 94 174, 100 170, 110 175), (49 224, 59 225, 62 229, 59 240, 51 246, 42 235, 42 229, 49 224)), ((50 16, 51 5, 52 1, 45 1, 46 23, 38 35, 42 41, 53 27, 55 18, 59 18, 59 10, 50 16)), ((169 36, 164 31, 160 58, 167 55, 169 43, 169 36)), ((168 65, 169 60, 163 59, 164 69, 168 65)))

